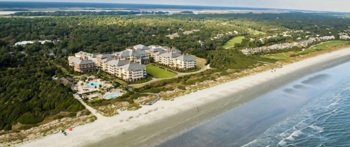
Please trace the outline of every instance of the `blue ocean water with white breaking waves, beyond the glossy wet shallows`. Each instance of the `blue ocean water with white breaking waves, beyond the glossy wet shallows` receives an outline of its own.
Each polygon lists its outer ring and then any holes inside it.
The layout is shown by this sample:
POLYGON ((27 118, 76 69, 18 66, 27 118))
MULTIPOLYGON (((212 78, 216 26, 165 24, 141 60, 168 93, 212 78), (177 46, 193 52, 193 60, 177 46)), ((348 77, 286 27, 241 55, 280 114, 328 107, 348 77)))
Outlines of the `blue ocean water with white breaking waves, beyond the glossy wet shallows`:
POLYGON ((350 147, 349 108, 350 79, 346 79, 243 147, 350 147))

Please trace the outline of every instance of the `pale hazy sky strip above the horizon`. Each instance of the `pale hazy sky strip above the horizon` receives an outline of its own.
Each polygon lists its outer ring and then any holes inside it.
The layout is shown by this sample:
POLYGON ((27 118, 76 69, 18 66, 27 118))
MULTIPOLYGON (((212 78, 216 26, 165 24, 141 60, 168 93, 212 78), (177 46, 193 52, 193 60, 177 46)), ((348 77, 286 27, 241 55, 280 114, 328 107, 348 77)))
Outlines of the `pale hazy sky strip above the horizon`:
POLYGON ((280 8, 314 11, 350 12, 350 0, 0 0, 0 1, 61 1, 108 2, 280 8))

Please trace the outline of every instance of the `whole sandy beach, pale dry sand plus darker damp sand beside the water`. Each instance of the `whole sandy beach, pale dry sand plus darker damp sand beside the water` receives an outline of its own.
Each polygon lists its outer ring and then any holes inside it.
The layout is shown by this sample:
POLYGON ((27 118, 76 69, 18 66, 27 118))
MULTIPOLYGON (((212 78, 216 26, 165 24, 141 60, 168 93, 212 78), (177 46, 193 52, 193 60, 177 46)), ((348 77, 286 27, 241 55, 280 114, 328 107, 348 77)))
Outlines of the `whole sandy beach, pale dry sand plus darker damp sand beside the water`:
MULTIPOLYGON (((343 58, 345 62, 345 58, 349 56, 350 48, 337 50, 283 66, 282 68, 276 69, 276 72, 266 71, 263 73, 257 73, 255 75, 243 77, 208 89, 199 90, 185 96, 174 98, 173 101, 160 100, 151 106, 142 106, 142 108, 136 111, 119 112, 119 115, 113 117, 103 117, 96 113, 91 107, 87 107, 98 118, 94 123, 77 126, 73 128, 73 131, 68 131, 67 136, 60 133, 52 134, 36 141, 19 144, 18 146, 111 146, 111 144, 108 144, 107 142, 106 144, 103 144, 106 139, 118 142, 118 146, 123 147, 155 146, 174 135, 175 131, 176 134, 179 134, 178 132, 185 132, 192 128, 193 125, 203 123, 202 121, 193 122, 187 119, 188 117, 195 116, 200 118, 200 120, 208 120, 211 117, 215 117, 215 115, 232 109, 233 107, 247 102, 258 95, 251 94, 251 98, 244 98, 245 94, 240 94, 240 92, 244 92, 244 90, 249 90, 254 86, 254 88, 256 88, 259 84, 269 83, 278 78, 282 79, 283 76, 290 76, 292 74, 300 74, 299 76, 301 76, 317 72, 322 70, 322 68, 317 69, 320 65, 323 65, 323 68, 327 68, 327 65, 330 62, 336 61, 340 58, 343 58), (300 73, 298 71, 300 69, 307 69, 307 71, 304 70, 304 73, 300 73), (307 73, 309 71, 308 69, 310 69, 310 73, 307 73), (222 109, 217 113, 205 115, 206 111, 215 110, 217 108, 210 107, 212 102, 219 101, 220 99, 226 98, 232 94, 237 94, 237 102, 234 101, 235 99, 232 99, 232 101, 235 102, 235 106, 231 105, 230 107, 224 107, 224 104, 222 104, 222 107, 225 109, 222 109), (238 101, 238 99, 240 100, 238 101), (197 107, 201 108, 199 112, 197 107), (126 121, 129 117, 133 118, 126 121), (178 119, 176 117, 178 117, 178 119), (123 122, 120 122, 120 120, 123 120, 123 122), (180 123, 182 124, 181 127, 180 123), (185 126, 185 123, 188 125, 185 126), (180 128, 186 129, 179 130, 180 128), (124 135, 122 134, 123 132, 125 132, 124 135), (164 136, 162 133, 167 134, 164 136), (160 138, 160 136, 162 136, 162 138, 160 138)), ((280 85, 275 85, 275 87, 276 86, 280 85)), ((268 87, 264 88, 268 89, 268 87)))

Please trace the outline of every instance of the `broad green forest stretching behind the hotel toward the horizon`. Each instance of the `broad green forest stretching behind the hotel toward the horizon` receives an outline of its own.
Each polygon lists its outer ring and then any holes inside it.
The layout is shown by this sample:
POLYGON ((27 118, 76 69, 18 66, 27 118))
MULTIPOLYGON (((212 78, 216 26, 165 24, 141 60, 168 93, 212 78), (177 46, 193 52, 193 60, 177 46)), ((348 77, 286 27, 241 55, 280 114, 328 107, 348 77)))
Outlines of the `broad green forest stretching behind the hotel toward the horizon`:
POLYGON ((303 39, 307 39, 306 35, 316 34, 337 36, 339 31, 349 29, 349 24, 350 19, 322 13, 13 17, 0 18, 0 38, 10 45, 29 40, 60 40, 61 42, 48 47, 56 54, 63 53, 62 49, 67 50, 68 54, 80 50, 106 53, 143 44, 146 46, 175 46, 185 53, 210 59, 214 50, 221 49, 225 42, 236 36, 245 36, 245 38, 241 44, 236 45, 235 49, 254 48, 294 42, 298 35, 303 36, 303 39), (193 29, 200 31, 188 35, 183 34, 184 31, 193 29), (270 38, 264 44, 257 41, 267 35, 272 36, 283 31, 300 29, 304 32, 293 33, 292 37, 277 36, 270 38), (233 31, 238 31, 238 33, 226 34, 233 31), (252 33, 254 31, 261 31, 265 34, 254 34, 252 33), (166 37, 173 33, 178 33, 180 37, 175 39, 166 37), (219 39, 211 40, 217 34, 224 35, 219 39), (250 38, 256 41, 250 42, 250 38), (200 48, 199 40, 205 42, 203 48, 200 48))

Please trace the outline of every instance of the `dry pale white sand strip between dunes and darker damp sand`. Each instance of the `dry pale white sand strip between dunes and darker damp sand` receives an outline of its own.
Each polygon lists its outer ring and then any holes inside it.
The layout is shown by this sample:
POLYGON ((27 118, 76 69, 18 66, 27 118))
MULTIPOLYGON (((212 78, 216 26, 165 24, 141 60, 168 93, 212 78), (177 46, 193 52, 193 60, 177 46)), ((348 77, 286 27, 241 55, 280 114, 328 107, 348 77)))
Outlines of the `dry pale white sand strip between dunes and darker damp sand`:
POLYGON ((73 131, 68 131, 68 135, 64 136, 60 133, 48 135, 42 139, 32 142, 26 142, 19 146, 23 147, 77 147, 86 145, 89 142, 95 142, 102 140, 113 134, 121 134, 123 131, 133 129, 138 126, 142 126, 146 123, 151 123, 159 119, 163 119, 169 115, 173 115, 183 111, 193 111, 189 109, 196 110, 196 107, 200 106, 202 103, 207 103, 220 95, 226 95, 227 92, 240 91, 245 88, 257 84, 262 81, 267 81, 274 79, 277 76, 281 76, 290 71, 300 69, 302 67, 310 67, 313 64, 326 62, 330 59, 341 57, 345 55, 350 55, 350 48, 334 51, 331 53, 326 53, 309 59, 305 59, 293 64, 283 66, 283 68, 276 69, 276 72, 271 73, 271 71, 258 73, 256 75, 243 77, 234 81, 230 81, 224 84, 220 84, 208 89, 200 90, 194 93, 190 93, 179 98, 175 98, 173 101, 163 101, 160 100, 151 106, 142 106, 142 108, 136 111, 123 111, 119 112, 119 115, 113 117, 103 117, 96 114, 91 107, 89 110, 97 115, 98 120, 94 123, 85 124, 82 126, 77 126, 73 128, 73 131), (232 91, 234 89, 235 91, 232 91), (164 107, 162 109, 162 107, 164 107), (141 115, 135 118, 140 113, 148 112, 148 110, 158 108, 158 111, 150 112, 147 115, 141 115), (134 116, 129 122, 125 120, 134 116), (119 122, 119 120, 124 120, 119 122))

